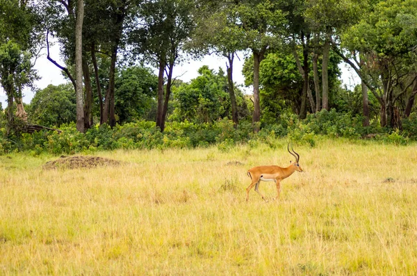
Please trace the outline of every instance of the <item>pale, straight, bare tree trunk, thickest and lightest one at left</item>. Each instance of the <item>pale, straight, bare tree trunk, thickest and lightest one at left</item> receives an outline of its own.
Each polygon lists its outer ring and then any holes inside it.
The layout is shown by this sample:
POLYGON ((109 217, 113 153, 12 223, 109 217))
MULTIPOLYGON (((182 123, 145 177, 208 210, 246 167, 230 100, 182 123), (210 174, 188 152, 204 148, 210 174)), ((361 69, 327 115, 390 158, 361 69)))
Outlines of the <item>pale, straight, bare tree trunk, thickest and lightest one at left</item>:
POLYGON ((76 71, 76 129, 84 132, 83 96, 83 19, 84 1, 77 1, 75 25, 75 71, 76 71))

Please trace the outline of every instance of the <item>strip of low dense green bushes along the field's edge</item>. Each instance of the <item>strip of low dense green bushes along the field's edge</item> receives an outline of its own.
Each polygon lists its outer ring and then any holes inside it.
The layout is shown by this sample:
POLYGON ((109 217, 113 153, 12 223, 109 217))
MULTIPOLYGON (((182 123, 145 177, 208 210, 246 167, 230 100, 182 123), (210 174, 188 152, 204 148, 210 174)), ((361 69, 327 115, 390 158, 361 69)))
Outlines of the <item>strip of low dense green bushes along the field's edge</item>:
POLYGON ((241 121, 234 128, 232 121, 223 119, 214 123, 168 122, 161 132, 152 121, 124 123, 110 128, 106 124, 94 126, 87 132, 76 130, 75 124, 64 124, 59 134, 56 131, 40 131, 20 137, 7 137, 2 129, 0 154, 27 151, 33 155, 47 152, 55 155, 94 152, 95 150, 194 148, 216 144, 219 150, 227 151, 236 143, 251 147, 267 144, 275 148, 283 137, 295 144, 314 146, 316 140, 325 137, 347 139, 375 139, 382 143, 404 145, 417 139, 417 114, 404 120, 403 130, 389 130, 370 126, 363 128, 362 118, 350 114, 338 114, 335 110, 323 110, 309 114, 300 120, 296 115, 283 114, 275 124, 252 132, 250 121, 241 121), (371 133, 371 135, 370 135, 371 133))

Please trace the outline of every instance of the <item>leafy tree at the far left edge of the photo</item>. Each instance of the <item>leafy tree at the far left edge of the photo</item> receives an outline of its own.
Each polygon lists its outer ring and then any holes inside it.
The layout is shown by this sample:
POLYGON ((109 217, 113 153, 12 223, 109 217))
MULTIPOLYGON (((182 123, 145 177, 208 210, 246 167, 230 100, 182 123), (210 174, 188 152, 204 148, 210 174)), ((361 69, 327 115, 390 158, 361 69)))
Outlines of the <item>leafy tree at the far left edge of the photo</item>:
POLYGON ((13 128, 13 101, 16 116, 26 122, 22 89, 37 78, 31 64, 39 42, 34 10, 28 1, 0 0, 0 78, 8 97, 8 132, 13 128))

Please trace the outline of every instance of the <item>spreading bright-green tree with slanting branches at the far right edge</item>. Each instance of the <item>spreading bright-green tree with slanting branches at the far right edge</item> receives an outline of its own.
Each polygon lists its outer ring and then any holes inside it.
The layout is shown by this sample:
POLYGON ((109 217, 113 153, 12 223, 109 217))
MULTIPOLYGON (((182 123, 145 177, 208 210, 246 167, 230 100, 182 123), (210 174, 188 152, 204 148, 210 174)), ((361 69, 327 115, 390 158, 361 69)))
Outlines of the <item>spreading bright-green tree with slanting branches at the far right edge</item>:
POLYGON ((417 1, 379 2, 370 14, 342 36, 349 51, 335 51, 352 66, 381 105, 381 126, 398 127, 398 100, 412 91, 416 81, 417 1), (360 61, 358 56, 360 54, 360 61))

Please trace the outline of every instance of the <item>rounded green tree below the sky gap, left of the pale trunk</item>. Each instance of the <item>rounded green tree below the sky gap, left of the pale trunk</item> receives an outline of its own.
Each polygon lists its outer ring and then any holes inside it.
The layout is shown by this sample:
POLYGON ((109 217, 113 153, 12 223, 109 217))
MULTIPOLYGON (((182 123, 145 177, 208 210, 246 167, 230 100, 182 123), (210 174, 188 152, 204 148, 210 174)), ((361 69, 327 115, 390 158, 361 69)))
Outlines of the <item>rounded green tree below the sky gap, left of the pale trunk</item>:
POLYGON ((28 118, 43 126, 60 127, 76 121, 76 96, 71 83, 38 90, 28 107, 28 118))

